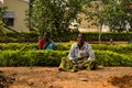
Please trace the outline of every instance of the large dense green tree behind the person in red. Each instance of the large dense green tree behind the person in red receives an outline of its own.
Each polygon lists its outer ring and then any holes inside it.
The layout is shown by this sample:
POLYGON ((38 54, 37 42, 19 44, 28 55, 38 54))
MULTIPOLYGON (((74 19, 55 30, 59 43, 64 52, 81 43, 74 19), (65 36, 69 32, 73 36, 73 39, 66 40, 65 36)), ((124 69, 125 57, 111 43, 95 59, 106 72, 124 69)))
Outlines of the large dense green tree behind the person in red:
POLYGON ((81 11, 81 0, 35 0, 33 2, 31 25, 42 36, 44 31, 52 34, 66 36, 68 26, 78 20, 81 11))

